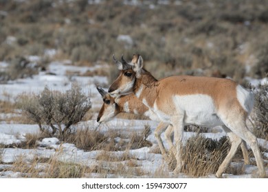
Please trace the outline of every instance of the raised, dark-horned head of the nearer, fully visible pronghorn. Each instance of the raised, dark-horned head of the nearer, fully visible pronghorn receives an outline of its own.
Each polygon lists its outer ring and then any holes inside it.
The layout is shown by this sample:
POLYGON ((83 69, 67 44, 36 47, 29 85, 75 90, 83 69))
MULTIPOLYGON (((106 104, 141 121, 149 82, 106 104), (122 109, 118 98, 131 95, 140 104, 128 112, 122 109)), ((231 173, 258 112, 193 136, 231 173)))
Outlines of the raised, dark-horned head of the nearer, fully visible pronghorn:
POLYGON ((121 59, 122 62, 116 60, 113 56, 113 61, 120 70, 120 75, 109 88, 109 93, 113 97, 132 93, 135 82, 141 76, 143 70, 142 56, 134 54, 131 63, 126 62, 123 56, 121 59))

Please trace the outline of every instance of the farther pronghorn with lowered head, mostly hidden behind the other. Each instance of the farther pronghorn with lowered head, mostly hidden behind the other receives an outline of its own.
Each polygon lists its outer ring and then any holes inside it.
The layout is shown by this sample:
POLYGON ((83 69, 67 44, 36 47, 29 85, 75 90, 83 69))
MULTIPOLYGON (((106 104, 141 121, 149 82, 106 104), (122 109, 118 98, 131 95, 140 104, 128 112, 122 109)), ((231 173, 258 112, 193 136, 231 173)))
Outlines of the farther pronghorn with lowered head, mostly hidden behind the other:
MULTIPOLYGON (((129 95, 122 95, 117 97, 116 99, 111 97, 107 91, 104 91, 102 88, 97 86, 97 90, 102 95, 103 104, 100 108, 100 112, 98 114, 97 121, 98 123, 106 122, 118 115, 120 112, 128 112, 137 115, 144 115, 153 121, 159 121, 157 115, 149 110, 142 101, 139 101, 137 97, 132 93, 129 95)), ((167 123, 160 122, 157 128, 155 129, 155 138, 157 139, 157 143, 159 145, 161 154, 167 160, 168 155, 166 153, 166 149, 164 147, 163 141, 161 140, 161 133, 165 131, 165 138, 170 149, 174 150, 173 154, 175 155, 175 147, 173 146, 171 140, 171 134, 173 132, 172 126, 167 123)))

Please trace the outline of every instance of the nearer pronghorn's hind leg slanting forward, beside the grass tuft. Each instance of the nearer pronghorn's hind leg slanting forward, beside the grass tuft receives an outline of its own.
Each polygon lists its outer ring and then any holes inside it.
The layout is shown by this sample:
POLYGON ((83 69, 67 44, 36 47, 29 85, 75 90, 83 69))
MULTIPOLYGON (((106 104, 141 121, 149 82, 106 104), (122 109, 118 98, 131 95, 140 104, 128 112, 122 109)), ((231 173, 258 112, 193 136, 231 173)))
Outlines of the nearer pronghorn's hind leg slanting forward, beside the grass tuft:
POLYGON ((231 149, 230 152, 227 154, 225 159, 223 160, 223 163, 221 163, 218 171, 216 171, 216 177, 221 178, 221 175, 223 174, 223 171, 227 168, 227 166, 230 164, 232 158, 236 154, 236 151, 239 147, 239 145, 242 143, 242 139, 236 136, 231 130, 225 126, 223 126, 223 130, 226 132, 227 136, 229 136, 230 142, 231 142, 231 149))

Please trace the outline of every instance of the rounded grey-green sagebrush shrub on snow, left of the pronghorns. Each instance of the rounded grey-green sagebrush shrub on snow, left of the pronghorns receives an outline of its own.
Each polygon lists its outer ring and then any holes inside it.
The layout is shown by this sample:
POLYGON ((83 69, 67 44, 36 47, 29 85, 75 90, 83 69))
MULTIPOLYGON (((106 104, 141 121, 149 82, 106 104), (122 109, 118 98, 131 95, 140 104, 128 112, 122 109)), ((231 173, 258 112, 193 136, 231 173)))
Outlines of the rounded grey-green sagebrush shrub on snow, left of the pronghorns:
POLYGON ((89 97, 82 93, 78 84, 72 84, 65 93, 50 91, 46 86, 39 95, 23 95, 19 103, 41 132, 48 131, 63 140, 70 134, 71 125, 78 123, 91 108, 89 97))

